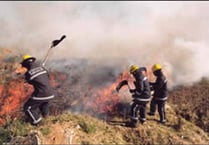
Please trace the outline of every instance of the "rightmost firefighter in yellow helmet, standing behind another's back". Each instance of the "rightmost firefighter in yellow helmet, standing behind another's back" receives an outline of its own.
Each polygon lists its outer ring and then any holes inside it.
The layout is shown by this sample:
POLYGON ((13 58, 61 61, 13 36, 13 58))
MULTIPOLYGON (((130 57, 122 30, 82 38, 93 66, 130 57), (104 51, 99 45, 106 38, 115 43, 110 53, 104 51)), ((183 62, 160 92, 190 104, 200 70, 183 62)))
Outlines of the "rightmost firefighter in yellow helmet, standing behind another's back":
POLYGON ((156 76, 155 82, 150 82, 151 88, 154 91, 153 98, 150 103, 149 115, 155 115, 156 106, 160 115, 160 123, 166 122, 165 103, 167 100, 167 80, 162 72, 162 66, 160 64, 154 64, 152 66, 152 72, 156 76))

